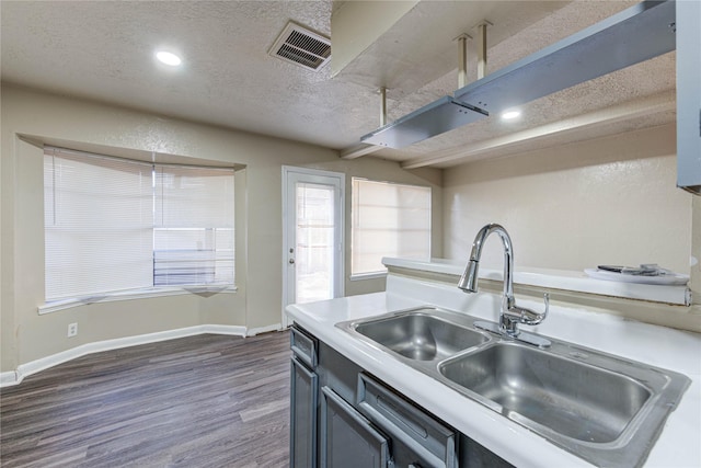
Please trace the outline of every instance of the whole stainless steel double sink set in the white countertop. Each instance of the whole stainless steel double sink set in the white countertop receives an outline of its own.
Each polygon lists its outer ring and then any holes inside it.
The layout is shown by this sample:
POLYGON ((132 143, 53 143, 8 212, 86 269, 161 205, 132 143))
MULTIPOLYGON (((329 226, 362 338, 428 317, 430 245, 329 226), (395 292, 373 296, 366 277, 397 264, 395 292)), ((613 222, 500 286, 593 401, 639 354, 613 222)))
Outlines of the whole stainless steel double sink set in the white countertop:
POLYGON ((474 320, 422 307, 336 327, 597 466, 642 465, 690 384, 552 338, 538 349, 474 320))

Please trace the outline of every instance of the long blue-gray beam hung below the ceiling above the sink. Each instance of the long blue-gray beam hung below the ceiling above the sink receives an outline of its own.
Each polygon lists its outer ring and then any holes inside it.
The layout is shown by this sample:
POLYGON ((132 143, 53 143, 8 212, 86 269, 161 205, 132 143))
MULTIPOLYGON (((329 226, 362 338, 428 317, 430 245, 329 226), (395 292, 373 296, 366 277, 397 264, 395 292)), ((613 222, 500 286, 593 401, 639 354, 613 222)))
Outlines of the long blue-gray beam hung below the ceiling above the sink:
MULTIPOLYGON (((644 1, 502 68, 360 138, 390 148, 452 130, 510 107, 675 50, 675 1, 644 1), (459 118, 456 109, 464 106, 459 118)), ((671 71, 670 71, 671 72, 671 71)))

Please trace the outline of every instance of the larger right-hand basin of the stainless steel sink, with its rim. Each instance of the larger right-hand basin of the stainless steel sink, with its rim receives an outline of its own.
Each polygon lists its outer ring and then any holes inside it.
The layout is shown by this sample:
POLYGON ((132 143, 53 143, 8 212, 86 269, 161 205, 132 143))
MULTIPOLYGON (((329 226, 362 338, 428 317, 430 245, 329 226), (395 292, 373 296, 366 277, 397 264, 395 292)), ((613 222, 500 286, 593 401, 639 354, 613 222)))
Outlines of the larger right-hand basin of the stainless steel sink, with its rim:
POLYGON ((438 379, 597 466, 643 464, 688 377, 552 340, 501 339, 440 362, 438 379))

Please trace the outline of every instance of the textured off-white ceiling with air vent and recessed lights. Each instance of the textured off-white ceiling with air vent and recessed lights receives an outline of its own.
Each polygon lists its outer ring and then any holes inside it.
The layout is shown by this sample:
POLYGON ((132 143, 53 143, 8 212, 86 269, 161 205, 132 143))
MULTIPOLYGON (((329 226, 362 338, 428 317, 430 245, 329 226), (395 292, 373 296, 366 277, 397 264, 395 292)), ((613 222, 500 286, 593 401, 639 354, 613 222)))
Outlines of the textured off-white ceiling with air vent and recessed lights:
MULTIPOLYGON (((379 85, 389 88, 389 121, 455 91, 457 45, 449 37, 455 38, 456 32, 473 33, 483 20, 494 23, 487 34, 489 72, 635 2, 427 0, 333 78, 331 67, 312 72, 268 56, 289 20, 330 36, 332 12, 344 3, 3 0, 2 80, 342 150, 358 145, 360 136, 379 126, 379 85), (158 47, 180 53, 184 66, 177 70, 159 66, 153 60, 158 47)), ((470 52, 469 80, 476 78, 474 62, 470 52)), ((535 101, 525 106, 518 122, 506 125, 490 117, 368 157, 424 165, 435 155, 489 147, 436 163, 447 167, 515 149, 664 125, 675 119, 674 88, 673 53, 535 101), (625 114, 651 96, 671 107, 656 105, 629 117, 600 115, 605 109, 623 109, 625 114), (598 123, 582 117, 594 114, 598 123), (587 124, 544 132, 563 119, 587 124), (526 137, 529 129, 532 135, 526 137), (512 134, 525 137, 508 147, 485 145, 512 134)))

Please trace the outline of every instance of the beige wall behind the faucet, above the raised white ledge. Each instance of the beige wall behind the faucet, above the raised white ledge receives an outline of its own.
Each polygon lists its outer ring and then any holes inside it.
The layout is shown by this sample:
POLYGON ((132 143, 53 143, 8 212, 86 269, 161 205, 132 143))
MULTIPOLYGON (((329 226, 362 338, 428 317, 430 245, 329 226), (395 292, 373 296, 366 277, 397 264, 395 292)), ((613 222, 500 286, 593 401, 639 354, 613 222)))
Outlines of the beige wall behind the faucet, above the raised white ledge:
MULTIPOLYGON (((444 252, 467 261, 494 221, 516 270, 658 263, 689 274, 692 195, 676 189, 675 141, 669 125, 447 170, 444 252)), ((484 255, 502 267, 498 240, 484 255)))

